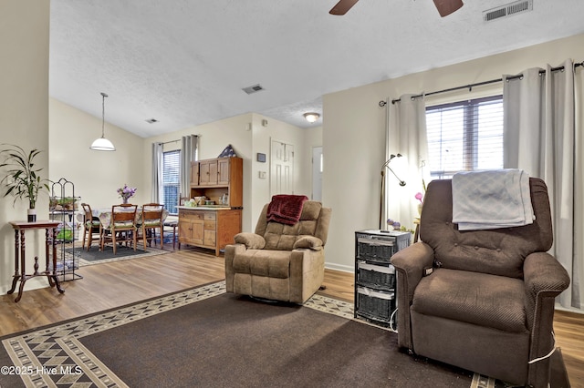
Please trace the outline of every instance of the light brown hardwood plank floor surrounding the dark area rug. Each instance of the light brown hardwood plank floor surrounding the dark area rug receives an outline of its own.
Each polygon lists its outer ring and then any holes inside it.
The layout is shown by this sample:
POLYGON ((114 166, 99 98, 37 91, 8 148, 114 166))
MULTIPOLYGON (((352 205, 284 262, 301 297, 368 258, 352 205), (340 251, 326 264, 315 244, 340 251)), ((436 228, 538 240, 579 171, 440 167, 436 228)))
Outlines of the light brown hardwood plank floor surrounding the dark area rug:
MULTIPOLYGON (((0 297, 0 336, 78 318, 135 301, 224 279, 224 258, 204 250, 183 249, 136 260, 82 267, 84 279, 66 281, 64 294, 54 289, 25 291, 0 297)), ((353 301, 353 274, 325 271, 324 295, 353 301)), ((584 315, 556 311, 557 345, 571 386, 584 388, 584 315)))

